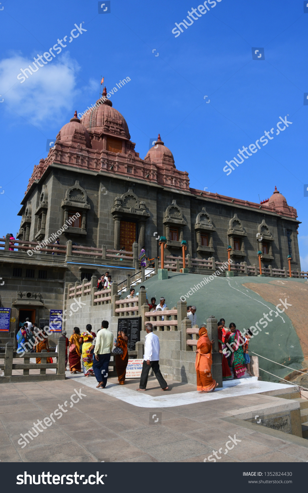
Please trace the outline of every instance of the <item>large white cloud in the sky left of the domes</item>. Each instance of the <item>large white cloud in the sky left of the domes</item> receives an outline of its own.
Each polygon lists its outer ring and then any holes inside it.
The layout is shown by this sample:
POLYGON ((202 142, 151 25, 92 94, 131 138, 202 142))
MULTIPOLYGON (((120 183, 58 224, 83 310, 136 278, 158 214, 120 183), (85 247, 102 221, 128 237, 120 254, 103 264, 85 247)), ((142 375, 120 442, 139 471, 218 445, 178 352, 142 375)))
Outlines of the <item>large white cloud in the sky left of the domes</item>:
POLYGON ((0 93, 4 98, 1 109, 5 108, 15 117, 17 113, 33 125, 40 125, 46 119, 49 123, 59 122, 62 113, 72 110, 73 101, 79 94, 76 78, 80 67, 66 52, 32 75, 27 72, 29 78, 21 83, 17 75, 32 61, 17 54, 1 60, 0 93))

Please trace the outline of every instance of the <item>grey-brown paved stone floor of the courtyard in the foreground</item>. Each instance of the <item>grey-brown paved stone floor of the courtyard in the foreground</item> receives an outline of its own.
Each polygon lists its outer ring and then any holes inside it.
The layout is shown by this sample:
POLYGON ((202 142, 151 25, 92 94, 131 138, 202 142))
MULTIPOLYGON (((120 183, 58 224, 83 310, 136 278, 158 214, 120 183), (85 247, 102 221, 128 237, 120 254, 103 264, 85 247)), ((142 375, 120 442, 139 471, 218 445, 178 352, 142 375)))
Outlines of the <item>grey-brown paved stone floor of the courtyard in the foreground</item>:
MULTIPOLYGON (((109 385, 113 383, 116 379, 110 379, 109 385)), ((127 387, 137 387, 137 382, 130 382, 127 387)), ((148 387, 152 395, 160 395, 154 377, 149 379, 148 387)), ((171 392, 177 393, 195 390, 178 382, 170 382, 170 387, 173 387, 171 392)), ((65 381, 2 384, 0 460, 203 462, 213 450, 221 448, 219 462, 308 461, 307 440, 268 428, 259 431, 256 425, 230 418, 228 414, 231 409, 270 399, 267 395, 249 394, 150 409, 83 386, 78 375, 65 381), (86 396, 70 408, 74 388, 81 388, 86 396), (50 416, 65 401, 67 412, 22 449, 17 443, 20 433, 27 433, 33 422, 50 416), (159 417, 158 413, 161 421, 154 423, 152 416, 159 417), (241 442, 224 455, 228 435, 234 437, 234 434, 241 442)))

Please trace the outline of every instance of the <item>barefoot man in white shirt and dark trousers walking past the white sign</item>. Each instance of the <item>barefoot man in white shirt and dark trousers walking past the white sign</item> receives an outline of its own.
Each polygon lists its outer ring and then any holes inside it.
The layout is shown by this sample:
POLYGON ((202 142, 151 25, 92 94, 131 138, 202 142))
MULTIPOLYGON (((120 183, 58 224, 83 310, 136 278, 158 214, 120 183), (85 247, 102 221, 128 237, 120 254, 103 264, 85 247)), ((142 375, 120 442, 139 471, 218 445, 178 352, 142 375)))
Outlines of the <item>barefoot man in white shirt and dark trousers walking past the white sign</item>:
POLYGON ((163 378, 160 369, 159 369, 159 338, 153 334, 153 325, 152 323, 146 323, 146 338, 145 338, 145 348, 144 348, 144 356, 143 356, 143 365, 142 372, 140 377, 139 388, 137 390, 145 391, 148 383, 148 376, 150 368, 153 369, 155 377, 158 380, 158 383, 162 390, 168 390, 168 385, 165 379, 163 378))

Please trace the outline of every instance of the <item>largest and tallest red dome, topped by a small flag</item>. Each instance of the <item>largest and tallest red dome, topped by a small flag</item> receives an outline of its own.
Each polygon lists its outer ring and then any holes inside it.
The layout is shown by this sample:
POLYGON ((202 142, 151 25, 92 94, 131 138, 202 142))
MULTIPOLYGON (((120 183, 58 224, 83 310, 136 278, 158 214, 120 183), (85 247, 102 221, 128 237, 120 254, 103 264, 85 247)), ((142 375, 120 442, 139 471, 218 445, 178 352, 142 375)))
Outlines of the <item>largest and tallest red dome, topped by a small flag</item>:
MULTIPOLYGON (((106 87, 103 89, 103 97, 107 96, 106 87)), ((123 115, 112 107, 112 102, 107 99, 96 101, 96 107, 88 109, 88 113, 81 118, 82 124, 89 132, 101 134, 119 135, 130 140, 128 126, 123 115)))

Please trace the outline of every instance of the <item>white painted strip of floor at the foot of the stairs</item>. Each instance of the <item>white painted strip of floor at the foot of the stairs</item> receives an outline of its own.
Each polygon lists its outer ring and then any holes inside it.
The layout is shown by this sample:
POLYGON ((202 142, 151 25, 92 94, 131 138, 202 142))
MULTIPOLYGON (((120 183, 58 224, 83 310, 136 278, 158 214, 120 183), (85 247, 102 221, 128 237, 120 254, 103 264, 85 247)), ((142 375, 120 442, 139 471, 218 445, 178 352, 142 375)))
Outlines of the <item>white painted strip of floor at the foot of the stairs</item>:
MULTIPOLYGON (((74 375, 74 377, 77 377, 77 375, 74 375)), ((223 382, 222 388, 218 388, 214 392, 210 392, 208 394, 199 394, 197 390, 195 390, 192 392, 174 393, 172 395, 171 390, 168 392, 162 392, 161 396, 154 397, 146 392, 137 392, 136 390, 129 389, 125 386, 119 386, 117 384, 107 383, 107 387, 104 389, 96 388, 97 382, 94 378, 77 377, 74 378, 74 381, 76 382, 76 388, 77 385, 91 387, 102 394, 108 394, 133 406, 145 408, 185 406, 196 402, 206 402, 216 399, 223 399, 225 397, 237 397, 240 395, 256 394, 260 392, 267 392, 269 390, 278 390, 281 388, 291 387, 287 384, 262 382, 258 381, 257 377, 250 377, 223 382)))

